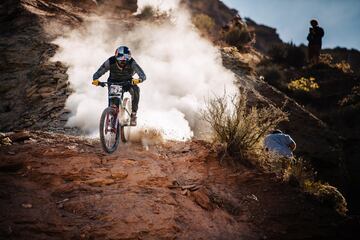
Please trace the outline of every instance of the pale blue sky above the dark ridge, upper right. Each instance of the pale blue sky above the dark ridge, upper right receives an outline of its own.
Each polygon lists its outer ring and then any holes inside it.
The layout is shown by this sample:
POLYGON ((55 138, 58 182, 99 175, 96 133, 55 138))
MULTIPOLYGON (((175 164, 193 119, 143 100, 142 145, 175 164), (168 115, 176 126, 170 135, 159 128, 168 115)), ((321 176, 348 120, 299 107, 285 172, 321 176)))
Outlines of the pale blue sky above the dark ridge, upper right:
POLYGON ((281 39, 305 43, 309 21, 325 30, 324 47, 360 50, 360 0, 222 0, 257 23, 277 29, 281 39))

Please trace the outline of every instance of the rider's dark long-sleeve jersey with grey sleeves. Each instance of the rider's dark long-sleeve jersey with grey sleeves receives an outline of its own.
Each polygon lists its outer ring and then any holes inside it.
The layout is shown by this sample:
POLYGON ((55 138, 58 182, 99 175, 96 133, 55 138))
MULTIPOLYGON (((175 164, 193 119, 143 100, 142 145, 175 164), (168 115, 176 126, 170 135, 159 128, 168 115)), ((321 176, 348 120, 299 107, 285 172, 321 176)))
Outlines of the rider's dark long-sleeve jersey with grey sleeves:
POLYGON ((96 73, 94 73, 93 79, 99 79, 102 75, 110 70, 110 75, 108 78, 109 82, 130 81, 135 73, 139 75, 139 78, 142 81, 146 80, 144 71, 133 58, 124 66, 124 68, 121 68, 116 61, 117 60, 114 56, 106 60, 96 71, 96 73))

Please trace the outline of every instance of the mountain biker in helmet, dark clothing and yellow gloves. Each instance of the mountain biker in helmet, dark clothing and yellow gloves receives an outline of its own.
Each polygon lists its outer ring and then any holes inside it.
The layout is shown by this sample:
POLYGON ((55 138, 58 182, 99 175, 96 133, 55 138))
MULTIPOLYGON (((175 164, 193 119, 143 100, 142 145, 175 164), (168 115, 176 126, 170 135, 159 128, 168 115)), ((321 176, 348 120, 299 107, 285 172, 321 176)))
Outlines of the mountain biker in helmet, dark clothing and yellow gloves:
MULTIPOLYGON (((136 63, 135 59, 131 57, 131 51, 126 46, 120 46, 116 49, 115 55, 106 60, 100 68, 94 73, 92 84, 95 86, 101 85, 98 80, 102 75, 110 70, 108 83, 131 82, 131 85, 124 86, 124 90, 129 92, 132 99, 132 113, 130 125, 136 126, 136 112, 138 110, 140 100, 140 88, 137 84, 146 80, 146 75, 141 67, 136 63), (133 75, 137 73, 140 79, 133 79, 133 75)), ((119 106, 118 99, 109 101, 109 106, 115 104, 119 106)))

